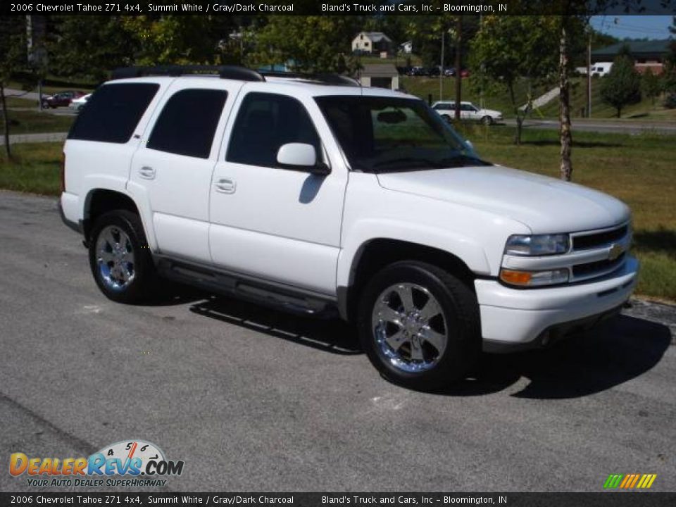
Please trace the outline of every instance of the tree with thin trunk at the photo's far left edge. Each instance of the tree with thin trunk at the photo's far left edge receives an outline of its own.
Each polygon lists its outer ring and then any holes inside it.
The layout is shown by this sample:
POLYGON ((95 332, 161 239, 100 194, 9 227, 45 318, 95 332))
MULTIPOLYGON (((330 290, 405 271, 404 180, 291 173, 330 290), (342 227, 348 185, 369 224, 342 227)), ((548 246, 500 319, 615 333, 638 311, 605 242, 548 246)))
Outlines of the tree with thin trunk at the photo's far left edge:
POLYGON ((11 158, 9 144, 9 115, 5 89, 18 70, 27 68, 26 18, 0 16, 0 102, 2 105, 5 152, 11 158))

